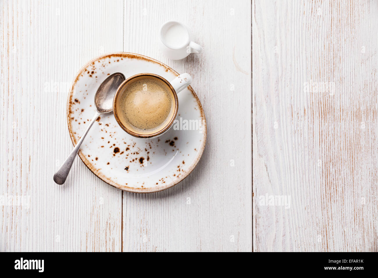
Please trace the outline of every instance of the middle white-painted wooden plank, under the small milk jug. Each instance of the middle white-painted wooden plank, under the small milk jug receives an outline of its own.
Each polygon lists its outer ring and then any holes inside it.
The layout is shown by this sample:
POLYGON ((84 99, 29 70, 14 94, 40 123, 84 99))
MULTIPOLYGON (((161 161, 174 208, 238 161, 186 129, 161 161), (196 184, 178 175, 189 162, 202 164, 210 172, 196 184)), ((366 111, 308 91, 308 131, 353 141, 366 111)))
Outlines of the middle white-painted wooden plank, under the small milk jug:
POLYGON ((251 3, 125 1, 124 50, 193 76, 208 134, 194 171, 173 188, 123 194, 124 251, 248 251, 251 216, 251 3), (157 48, 174 19, 204 48, 172 61, 157 48))

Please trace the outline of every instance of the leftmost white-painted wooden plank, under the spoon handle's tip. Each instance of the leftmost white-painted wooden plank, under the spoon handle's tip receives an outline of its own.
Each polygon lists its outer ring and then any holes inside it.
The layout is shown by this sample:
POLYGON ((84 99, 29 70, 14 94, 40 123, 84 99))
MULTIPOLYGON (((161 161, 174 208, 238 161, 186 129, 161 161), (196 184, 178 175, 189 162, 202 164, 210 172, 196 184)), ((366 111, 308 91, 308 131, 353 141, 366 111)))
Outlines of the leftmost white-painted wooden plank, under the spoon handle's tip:
POLYGON ((123 1, 1 1, 1 251, 119 251, 121 197, 76 159, 66 103, 76 72, 123 49, 123 1), (111 20, 110 20, 111 19, 111 20), (29 202, 28 202, 29 200, 29 202))

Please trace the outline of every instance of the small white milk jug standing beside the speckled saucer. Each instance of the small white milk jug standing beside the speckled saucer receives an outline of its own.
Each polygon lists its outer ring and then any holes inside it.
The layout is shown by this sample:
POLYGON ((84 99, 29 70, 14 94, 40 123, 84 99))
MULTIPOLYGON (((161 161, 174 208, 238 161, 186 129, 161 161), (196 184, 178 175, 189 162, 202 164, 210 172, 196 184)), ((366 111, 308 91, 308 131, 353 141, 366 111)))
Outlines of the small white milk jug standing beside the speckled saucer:
POLYGON ((190 53, 201 53, 202 47, 192 41, 189 30, 180 22, 169 20, 160 27, 161 52, 172 60, 180 60, 190 53))

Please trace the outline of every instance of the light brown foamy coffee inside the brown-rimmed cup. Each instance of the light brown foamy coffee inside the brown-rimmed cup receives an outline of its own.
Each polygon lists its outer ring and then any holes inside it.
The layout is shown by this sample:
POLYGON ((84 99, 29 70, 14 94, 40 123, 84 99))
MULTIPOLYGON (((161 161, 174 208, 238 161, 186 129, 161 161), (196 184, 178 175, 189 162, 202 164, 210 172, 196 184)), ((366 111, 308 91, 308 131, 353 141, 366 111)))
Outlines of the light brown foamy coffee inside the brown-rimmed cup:
POLYGON ((161 79, 139 76, 121 90, 116 104, 119 120, 136 134, 159 132, 174 116, 174 94, 161 79))

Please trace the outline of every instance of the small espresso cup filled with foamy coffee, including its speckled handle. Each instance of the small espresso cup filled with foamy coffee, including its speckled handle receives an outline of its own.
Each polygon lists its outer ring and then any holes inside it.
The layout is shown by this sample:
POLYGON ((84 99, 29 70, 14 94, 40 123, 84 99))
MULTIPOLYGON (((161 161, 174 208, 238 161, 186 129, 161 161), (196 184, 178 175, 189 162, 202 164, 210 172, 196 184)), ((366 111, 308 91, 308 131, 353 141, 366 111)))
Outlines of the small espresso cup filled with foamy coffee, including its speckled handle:
POLYGON ((141 73, 126 79, 113 99, 117 123, 135 137, 160 136, 172 126, 177 116, 177 93, 191 82, 187 73, 170 82, 153 73, 141 73))

